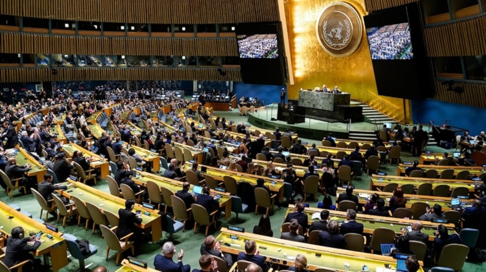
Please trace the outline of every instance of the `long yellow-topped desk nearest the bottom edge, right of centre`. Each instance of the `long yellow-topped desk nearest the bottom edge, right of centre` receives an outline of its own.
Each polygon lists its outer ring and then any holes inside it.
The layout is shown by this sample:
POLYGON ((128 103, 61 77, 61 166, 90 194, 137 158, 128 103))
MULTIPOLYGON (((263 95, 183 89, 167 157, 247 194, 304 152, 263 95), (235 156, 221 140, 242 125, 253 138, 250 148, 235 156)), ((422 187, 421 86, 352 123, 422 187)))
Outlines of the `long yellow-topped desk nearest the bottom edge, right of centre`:
MULTIPOLYGON (((397 263, 393 257, 389 256, 299 243, 248 232, 235 232, 226 228, 221 228, 221 234, 215 239, 224 242, 221 244, 223 252, 234 255, 245 252, 245 240, 254 240, 259 247, 260 255, 265 256, 267 262, 279 265, 293 266, 294 262, 290 257, 304 254, 307 257, 307 265, 311 271, 322 267, 339 272, 361 271, 363 265, 368 266, 369 271, 376 271, 377 267, 384 267, 385 264, 396 266, 397 263), (231 236, 236 236, 238 239, 232 239, 230 238, 231 236), (225 245, 225 243, 230 244, 230 246, 225 245), (318 257, 316 254, 320 256, 318 257), (344 263, 350 264, 348 270, 344 269, 344 263)), ((421 271, 423 272, 423 270, 421 271)))

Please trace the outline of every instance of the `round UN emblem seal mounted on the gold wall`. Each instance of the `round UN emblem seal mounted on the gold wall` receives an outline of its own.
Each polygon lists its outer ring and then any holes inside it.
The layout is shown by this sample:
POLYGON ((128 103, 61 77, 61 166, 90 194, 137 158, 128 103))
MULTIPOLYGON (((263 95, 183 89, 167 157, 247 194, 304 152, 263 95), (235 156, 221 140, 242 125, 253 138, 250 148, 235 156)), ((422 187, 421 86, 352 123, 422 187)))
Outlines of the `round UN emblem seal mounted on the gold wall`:
POLYGON ((360 45, 361 17, 351 5, 333 2, 324 7, 317 19, 316 34, 325 51, 336 57, 348 56, 360 45))

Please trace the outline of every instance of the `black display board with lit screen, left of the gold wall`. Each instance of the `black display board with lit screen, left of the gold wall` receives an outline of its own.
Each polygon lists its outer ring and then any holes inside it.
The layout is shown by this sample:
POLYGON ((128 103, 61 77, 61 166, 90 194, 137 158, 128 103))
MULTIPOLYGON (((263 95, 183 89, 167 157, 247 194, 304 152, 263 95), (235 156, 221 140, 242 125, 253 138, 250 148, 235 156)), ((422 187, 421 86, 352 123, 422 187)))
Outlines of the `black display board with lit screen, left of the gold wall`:
POLYGON ((241 23, 236 26, 236 40, 243 82, 247 84, 285 84, 281 25, 241 23))

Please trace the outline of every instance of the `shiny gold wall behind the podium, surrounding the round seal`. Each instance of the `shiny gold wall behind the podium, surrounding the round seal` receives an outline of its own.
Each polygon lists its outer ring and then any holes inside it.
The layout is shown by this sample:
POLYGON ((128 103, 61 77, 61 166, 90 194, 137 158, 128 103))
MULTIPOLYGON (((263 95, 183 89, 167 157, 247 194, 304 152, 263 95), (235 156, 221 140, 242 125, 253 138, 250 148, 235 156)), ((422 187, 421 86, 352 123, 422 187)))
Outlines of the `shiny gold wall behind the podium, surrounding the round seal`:
MULTIPOLYGON (((288 85, 288 96, 297 99, 300 88, 322 85, 351 93, 351 99, 380 107, 395 119, 409 119, 409 101, 378 96, 365 30, 354 53, 334 57, 322 49, 316 37, 316 20, 332 0, 289 0, 286 4, 287 27, 294 68, 295 85, 288 85), (404 107, 405 105, 405 107, 404 107)), ((363 17, 364 0, 345 0, 363 17)), ((364 26, 363 26, 364 27, 364 26)))

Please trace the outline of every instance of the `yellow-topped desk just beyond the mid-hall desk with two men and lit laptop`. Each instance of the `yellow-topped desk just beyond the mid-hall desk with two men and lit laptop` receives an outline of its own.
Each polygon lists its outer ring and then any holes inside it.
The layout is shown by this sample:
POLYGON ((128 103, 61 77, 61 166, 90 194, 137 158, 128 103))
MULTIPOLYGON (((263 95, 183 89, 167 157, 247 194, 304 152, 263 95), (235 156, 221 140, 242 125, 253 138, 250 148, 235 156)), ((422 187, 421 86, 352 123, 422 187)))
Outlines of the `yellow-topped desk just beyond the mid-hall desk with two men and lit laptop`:
MULTIPOLYGON (((276 180, 276 179, 271 179, 269 177, 264 177, 264 176, 257 176, 257 175, 251 175, 247 173, 240 173, 240 172, 235 172, 235 171, 230 171, 230 170, 222 170, 216 167, 210 167, 210 166, 205 166, 207 168, 206 172, 201 172, 203 175, 210 175, 217 181, 224 181, 225 176, 230 176, 233 177, 237 183, 240 182, 248 182, 251 185, 257 185, 257 179, 261 178, 265 181, 265 186, 267 186, 270 191, 275 192, 278 194, 278 198, 280 202, 283 201, 283 180, 276 180), (275 184, 272 183, 272 181, 276 182, 275 184)), ((192 164, 189 162, 186 162, 184 165, 184 170, 191 170, 192 164)), ((201 170, 201 165, 198 166, 198 170, 201 170)))

